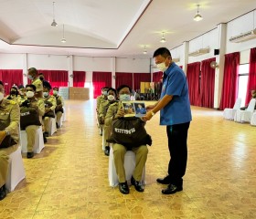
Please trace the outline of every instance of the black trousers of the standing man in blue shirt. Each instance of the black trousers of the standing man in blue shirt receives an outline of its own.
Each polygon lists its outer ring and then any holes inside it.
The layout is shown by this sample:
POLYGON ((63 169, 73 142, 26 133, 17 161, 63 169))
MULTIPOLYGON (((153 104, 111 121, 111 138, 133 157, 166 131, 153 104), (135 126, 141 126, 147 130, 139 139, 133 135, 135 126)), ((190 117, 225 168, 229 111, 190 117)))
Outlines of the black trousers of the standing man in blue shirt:
POLYGON ((182 185, 187 168, 187 131, 190 122, 166 127, 170 162, 168 178, 171 183, 182 185))

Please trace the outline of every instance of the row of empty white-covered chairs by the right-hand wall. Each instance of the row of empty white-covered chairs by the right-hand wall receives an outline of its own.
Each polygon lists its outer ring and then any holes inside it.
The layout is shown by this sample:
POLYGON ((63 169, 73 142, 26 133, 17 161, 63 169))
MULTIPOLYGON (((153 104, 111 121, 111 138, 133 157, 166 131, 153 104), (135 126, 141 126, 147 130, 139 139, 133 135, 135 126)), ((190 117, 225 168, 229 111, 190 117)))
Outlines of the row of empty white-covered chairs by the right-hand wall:
POLYGON ((223 112, 225 120, 234 120, 236 122, 249 122, 252 126, 256 126, 256 99, 251 99, 246 110, 240 110, 241 99, 238 98, 232 109, 226 108, 223 112))

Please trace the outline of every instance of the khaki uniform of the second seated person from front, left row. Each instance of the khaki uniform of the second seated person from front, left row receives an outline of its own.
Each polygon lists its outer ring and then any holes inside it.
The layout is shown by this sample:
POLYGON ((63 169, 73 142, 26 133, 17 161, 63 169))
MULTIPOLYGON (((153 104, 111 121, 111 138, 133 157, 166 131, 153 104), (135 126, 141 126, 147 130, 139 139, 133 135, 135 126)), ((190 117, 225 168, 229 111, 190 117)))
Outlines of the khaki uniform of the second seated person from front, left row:
MULTIPOLYGON (((39 114, 39 120, 42 123, 42 116, 45 114, 45 103, 43 99, 32 99, 30 101, 30 106, 37 108, 37 112, 39 114)), ((36 132, 39 126, 37 125, 30 125, 26 127, 27 132, 27 152, 33 152, 35 141, 36 141, 36 132)))

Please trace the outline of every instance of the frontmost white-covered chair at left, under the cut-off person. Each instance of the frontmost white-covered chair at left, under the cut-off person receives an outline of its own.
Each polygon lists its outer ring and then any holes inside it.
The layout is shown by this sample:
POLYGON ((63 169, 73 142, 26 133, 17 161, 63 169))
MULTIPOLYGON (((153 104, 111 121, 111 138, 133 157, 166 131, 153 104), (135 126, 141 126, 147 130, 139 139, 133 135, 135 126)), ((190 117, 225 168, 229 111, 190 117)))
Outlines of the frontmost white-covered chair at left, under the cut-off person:
POLYGON ((9 170, 7 180, 5 183, 6 189, 13 192, 16 185, 25 178, 25 169, 21 157, 21 149, 17 148, 16 151, 9 155, 9 170))

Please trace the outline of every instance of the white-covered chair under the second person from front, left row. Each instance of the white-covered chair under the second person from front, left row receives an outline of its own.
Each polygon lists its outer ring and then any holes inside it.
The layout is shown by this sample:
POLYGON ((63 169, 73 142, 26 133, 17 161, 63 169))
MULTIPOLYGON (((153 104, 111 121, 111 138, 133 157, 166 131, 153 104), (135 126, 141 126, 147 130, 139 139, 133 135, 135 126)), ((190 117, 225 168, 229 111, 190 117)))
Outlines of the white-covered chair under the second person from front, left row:
MULTIPOLYGON (((27 132, 26 130, 21 130, 21 151, 27 152, 27 132)), ((45 147, 44 144, 44 137, 43 137, 43 130, 42 127, 39 126, 36 132, 36 139, 35 139, 35 145, 34 145, 34 153, 39 153, 42 151, 42 149, 45 147)))

